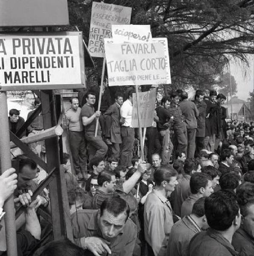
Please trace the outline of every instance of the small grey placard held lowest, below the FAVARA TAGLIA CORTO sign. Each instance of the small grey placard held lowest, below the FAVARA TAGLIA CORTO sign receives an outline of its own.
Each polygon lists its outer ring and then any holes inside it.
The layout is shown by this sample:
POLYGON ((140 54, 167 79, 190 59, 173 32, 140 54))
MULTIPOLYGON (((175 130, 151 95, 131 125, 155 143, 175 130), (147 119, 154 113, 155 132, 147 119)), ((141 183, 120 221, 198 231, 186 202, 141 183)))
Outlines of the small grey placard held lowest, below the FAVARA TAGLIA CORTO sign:
MULTIPOLYGON (((153 125, 153 113, 156 101, 156 89, 148 92, 139 93, 139 112, 141 127, 150 127, 153 125)), ((131 116, 131 125, 134 128, 139 127, 138 122, 138 108, 137 108, 137 94, 133 93, 133 108, 131 116)))

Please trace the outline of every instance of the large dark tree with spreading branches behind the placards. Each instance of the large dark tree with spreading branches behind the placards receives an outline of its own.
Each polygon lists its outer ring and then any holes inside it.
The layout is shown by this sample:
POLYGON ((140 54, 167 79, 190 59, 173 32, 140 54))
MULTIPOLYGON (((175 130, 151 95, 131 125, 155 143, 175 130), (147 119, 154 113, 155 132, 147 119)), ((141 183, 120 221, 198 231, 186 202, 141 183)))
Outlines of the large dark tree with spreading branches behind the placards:
MULTIPOLYGON (((68 0, 70 27, 88 43, 92 1, 68 0)), ((211 88, 229 58, 254 53, 253 0, 105 0, 132 7, 132 24, 150 24, 153 37, 167 37, 172 85, 211 88)), ((66 28, 65 28, 66 29, 66 28)), ((95 60, 98 67, 102 59, 95 60)))

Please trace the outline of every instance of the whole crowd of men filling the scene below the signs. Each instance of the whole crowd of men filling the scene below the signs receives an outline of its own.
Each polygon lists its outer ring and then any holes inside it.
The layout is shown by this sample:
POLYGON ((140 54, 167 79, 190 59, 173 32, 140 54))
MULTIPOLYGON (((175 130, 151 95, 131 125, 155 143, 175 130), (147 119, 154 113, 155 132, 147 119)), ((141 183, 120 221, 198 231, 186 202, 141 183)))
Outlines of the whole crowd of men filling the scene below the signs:
MULTIPOLYGON (((226 98, 214 90, 209 96, 196 90, 193 101, 185 91, 172 92, 155 108, 153 126, 147 128, 145 162, 133 157, 132 93, 125 101, 115 93, 115 103, 104 111, 95 111, 92 91, 85 101, 70 100, 65 113, 70 154, 63 153, 60 170, 73 243, 49 237, 41 247, 49 227, 36 210, 50 212, 50 198, 45 189, 32 201, 38 186, 34 160, 18 155, 18 177, 14 169, 0 176, 5 188, 0 190, 1 218, 13 192, 15 206, 26 207, 16 223, 19 255, 36 250, 36 256, 253 256, 253 122, 226 122, 226 98)), ((16 133, 24 120, 17 110, 9 115, 16 133)), ((43 130, 39 121, 32 122, 29 133, 43 130)))

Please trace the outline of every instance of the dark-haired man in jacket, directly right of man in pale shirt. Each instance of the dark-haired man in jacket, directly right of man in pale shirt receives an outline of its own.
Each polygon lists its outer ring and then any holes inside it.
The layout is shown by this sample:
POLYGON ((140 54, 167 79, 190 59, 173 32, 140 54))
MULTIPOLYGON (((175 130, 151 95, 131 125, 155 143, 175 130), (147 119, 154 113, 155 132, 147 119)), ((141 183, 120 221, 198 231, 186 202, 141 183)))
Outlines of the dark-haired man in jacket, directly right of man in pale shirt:
POLYGON ((196 159, 188 158, 184 164, 183 177, 178 181, 175 191, 172 193, 173 210, 176 215, 181 216, 182 203, 191 195, 190 179, 195 172, 200 172, 201 166, 196 159))

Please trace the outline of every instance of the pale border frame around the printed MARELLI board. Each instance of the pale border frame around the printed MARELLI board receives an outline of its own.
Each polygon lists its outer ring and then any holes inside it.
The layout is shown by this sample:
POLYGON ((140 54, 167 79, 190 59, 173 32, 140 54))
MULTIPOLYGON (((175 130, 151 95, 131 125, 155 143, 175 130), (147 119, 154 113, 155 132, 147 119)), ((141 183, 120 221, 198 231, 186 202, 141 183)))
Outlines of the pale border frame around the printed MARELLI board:
MULTIPOLYGON (((86 88, 85 81, 85 61, 84 61, 84 45, 82 32, 64 31, 64 32, 0 32, 0 37, 13 37, 13 36, 68 36, 78 35, 78 49, 81 69, 81 84, 41 84, 40 86, 33 85, 3 85, 0 84, 0 91, 14 91, 14 90, 54 90, 54 89, 74 89, 74 88, 86 88)), ((1 71, 1 70, 0 70, 1 71)))

